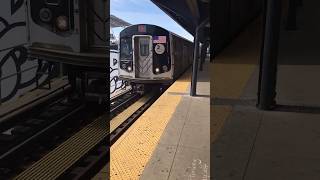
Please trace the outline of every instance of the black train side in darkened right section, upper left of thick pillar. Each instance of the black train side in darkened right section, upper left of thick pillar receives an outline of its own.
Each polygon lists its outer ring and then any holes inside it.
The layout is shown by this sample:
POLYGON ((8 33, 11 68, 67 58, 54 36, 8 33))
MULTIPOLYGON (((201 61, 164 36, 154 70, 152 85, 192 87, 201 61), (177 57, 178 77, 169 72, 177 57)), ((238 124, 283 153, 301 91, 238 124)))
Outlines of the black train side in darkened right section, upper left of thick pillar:
POLYGON ((263 0, 214 0, 213 50, 219 53, 262 10, 263 0))

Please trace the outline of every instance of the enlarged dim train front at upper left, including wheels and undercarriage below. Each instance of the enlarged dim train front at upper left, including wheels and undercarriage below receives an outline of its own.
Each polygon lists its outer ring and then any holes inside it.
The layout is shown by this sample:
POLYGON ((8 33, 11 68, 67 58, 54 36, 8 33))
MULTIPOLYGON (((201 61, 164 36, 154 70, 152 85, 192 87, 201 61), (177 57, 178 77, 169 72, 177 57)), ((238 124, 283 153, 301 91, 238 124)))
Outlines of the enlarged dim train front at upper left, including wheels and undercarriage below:
MULTIPOLYGON (((28 0, 28 56, 59 65, 73 92, 104 103, 109 0, 28 0)), ((51 76, 50 76, 51 77, 51 76)))

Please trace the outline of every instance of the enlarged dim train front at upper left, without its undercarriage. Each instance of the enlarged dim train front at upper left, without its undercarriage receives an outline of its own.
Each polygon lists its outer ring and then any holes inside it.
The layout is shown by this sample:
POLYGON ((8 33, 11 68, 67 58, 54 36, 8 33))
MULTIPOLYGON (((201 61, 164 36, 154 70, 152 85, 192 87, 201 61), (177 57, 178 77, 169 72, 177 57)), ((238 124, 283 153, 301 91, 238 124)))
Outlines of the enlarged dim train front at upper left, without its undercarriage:
POLYGON ((107 0, 28 0, 29 55, 65 64, 105 68, 107 0))

